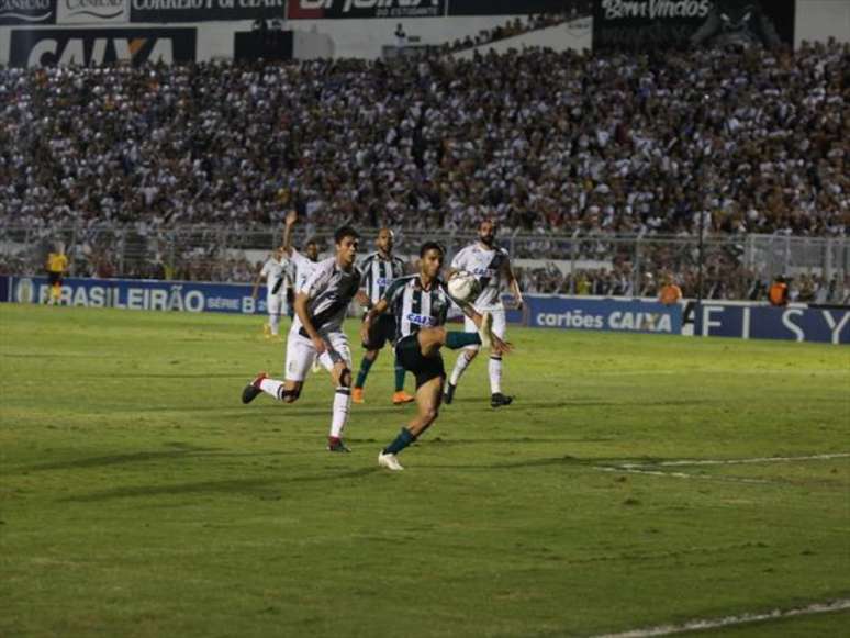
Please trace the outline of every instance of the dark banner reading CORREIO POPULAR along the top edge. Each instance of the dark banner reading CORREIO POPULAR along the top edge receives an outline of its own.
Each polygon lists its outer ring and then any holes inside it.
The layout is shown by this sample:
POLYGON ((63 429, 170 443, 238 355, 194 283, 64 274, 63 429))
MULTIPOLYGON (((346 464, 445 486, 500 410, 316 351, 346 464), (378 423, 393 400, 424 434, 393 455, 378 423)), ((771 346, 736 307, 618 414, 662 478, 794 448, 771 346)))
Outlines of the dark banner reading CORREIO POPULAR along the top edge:
POLYGON ((131 22, 212 22, 283 18, 286 0, 130 0, 131 22))

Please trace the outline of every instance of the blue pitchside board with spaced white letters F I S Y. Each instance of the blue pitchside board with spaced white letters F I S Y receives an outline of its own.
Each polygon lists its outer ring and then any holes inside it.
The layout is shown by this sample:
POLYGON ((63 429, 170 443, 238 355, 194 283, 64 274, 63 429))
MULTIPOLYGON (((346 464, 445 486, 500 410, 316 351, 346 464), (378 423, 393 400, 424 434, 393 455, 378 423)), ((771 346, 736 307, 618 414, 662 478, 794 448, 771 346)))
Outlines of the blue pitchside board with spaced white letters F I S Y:
POLYGON ((850 311, 703 303, 694 334, 741 339, 850 344, 850 311))

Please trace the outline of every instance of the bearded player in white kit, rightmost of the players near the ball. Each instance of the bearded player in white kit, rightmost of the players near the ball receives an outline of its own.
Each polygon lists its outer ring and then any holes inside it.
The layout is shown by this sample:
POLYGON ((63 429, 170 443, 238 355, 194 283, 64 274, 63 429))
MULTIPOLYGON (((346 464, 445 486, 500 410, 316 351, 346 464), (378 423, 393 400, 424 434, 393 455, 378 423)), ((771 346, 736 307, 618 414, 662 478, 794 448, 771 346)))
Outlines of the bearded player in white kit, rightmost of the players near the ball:
MULTIPOLYGON (((499 338, 505 337, 505 306, 502 302, 502 288, 506 283, 514 295, 516 307, 523 306, 523 292, 519 282, 511 269, 511 258, 507 250, 495 245, 496 224, 492 220, 483 220, 478 227, 478 242, 470 244, 451 260, 451 271, 466 270, 476 276, 481 287, 481 293, 472 305, 478 312, 489 312, 493 315, 493 333, 499 338)), ((473 331, 474 325, 467 318, 466 329, 473 331)), ((478 355, 478 346, 465 349, 455 362, 455 369, 446 385, 446 403, 455 399, 455 390, 460 376, 478 355)), ((502 393, 502 355, 490 354, 490 405, 500 407, 510 405, 514 400, 502 393)))

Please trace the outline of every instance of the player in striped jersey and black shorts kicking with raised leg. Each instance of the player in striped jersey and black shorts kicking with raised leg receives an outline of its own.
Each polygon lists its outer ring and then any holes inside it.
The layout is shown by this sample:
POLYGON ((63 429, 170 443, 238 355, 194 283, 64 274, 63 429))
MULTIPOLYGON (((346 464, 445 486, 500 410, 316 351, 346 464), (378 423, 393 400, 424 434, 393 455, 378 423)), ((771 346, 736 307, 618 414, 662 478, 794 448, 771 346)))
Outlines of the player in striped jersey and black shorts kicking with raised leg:
POLYGON ((446 370, 439 351, 443 346, 457 349, 478 345, 489 347, 499 355, 511 350, 510 344, 493 335, 490 314, 481 315, 466 301, 449 296, 446 283, 439 278, 444 258, 445 250, 439 244, 423 244, 420 249, 420 272, 393 281, 383 298, 367 313, 360 328, 366 338, 372 321, 392 307, 396 329, 395 354, 404 369, 416 378, 416 416, 378 455, 378 464, 388 470, 404 469, 398 455, 437 418, 446 382, 446 370), (472 321, 478 333, 449 332, 444 327, 452 301, 472 321))

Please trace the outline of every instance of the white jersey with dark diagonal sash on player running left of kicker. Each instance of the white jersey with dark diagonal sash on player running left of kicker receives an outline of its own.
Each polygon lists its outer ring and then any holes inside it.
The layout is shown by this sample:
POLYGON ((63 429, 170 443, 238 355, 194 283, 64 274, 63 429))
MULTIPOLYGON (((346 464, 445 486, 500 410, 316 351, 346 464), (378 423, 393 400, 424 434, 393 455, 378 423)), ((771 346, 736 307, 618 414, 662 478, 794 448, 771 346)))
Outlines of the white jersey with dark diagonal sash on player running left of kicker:
MULTIPOLYGON (((360 289, 360 270, 345 271, 336 265, 336 257, 316 264, 315 270, 299 292, 307 295, 307 313, 313 326, 322 334, 340 332, 345 311, 360 289)), ((292 331, 309 337, 298 315, 292 331)))

